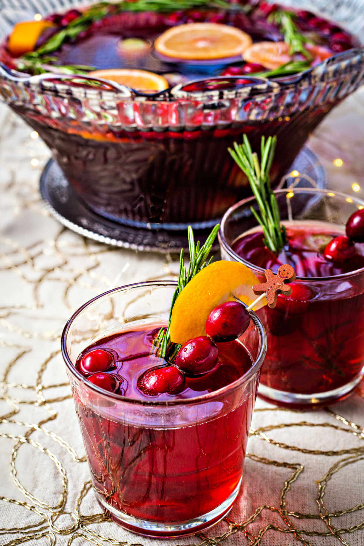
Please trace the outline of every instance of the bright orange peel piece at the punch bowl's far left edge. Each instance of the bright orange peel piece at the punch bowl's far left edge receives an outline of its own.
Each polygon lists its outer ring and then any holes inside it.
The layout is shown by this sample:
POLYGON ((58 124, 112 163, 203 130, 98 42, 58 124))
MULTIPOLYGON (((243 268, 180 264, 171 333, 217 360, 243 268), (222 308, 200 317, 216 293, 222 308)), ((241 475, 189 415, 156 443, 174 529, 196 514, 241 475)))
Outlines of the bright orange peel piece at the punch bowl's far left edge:
POLYGON ((14 57, 34 51, 35 45, 46 28, 56 26, 51 21, 22 21, 13 28, 8 40, 8 50, 14 57))

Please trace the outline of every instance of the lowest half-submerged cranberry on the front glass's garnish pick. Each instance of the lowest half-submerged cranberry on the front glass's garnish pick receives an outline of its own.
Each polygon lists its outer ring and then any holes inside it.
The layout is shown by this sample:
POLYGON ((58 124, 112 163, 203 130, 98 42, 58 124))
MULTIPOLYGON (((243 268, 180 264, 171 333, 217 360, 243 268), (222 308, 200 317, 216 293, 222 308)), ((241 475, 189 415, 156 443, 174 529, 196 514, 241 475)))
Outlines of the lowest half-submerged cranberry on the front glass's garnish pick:
POLYGON ((154 368, 143 373, 138 379, 138 389, 147 396, 178 394, 184 389, 186 378, 177 366, 154 368))

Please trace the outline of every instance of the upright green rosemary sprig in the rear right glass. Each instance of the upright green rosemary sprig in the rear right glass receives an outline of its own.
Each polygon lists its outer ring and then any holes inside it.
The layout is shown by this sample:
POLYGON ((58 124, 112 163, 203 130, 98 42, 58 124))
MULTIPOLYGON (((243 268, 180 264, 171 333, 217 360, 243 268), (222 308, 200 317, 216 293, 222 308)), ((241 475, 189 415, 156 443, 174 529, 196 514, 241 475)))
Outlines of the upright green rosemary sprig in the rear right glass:
POLYGON ((250 207, 256 221, 261 225, 264 233, 264 243, 269 250, 278 253, 286 242, 285 228, 281 225, 278 203, 272 192, 269 172, 272 166, 273 156, 277 144, 276 136, 269 136, 267 140, 261 137, 259 163, 258 155, 252 152, 247 135, 243 135, 243 144, 234 143, 234 150, 229 148, 230 155, 237 165, 248 177, 256 201, 259 206, 260 216, 250 207))

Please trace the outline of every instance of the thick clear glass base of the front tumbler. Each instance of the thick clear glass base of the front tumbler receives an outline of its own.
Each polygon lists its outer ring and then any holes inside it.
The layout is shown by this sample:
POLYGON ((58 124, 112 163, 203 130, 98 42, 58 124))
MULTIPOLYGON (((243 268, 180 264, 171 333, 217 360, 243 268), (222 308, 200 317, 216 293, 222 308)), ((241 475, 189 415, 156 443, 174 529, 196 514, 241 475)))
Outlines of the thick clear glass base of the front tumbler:
POLYGON ((204 531, 208 527, 218 523, 230 511, 239 492, 241 480, 229 497, 217 508, 211 510, 211 512, 187 521, 174 521, 170 523, 134 518, 132 515, 121 512, 114 506, 109 505, 105 501, 105 498, 97 491, 95 491, 95 494, 106 514, 117 524, 128 529, 128 531, 133 531, 134 533, 138 533, 138 535, 147 537, 181 537, 204 531))

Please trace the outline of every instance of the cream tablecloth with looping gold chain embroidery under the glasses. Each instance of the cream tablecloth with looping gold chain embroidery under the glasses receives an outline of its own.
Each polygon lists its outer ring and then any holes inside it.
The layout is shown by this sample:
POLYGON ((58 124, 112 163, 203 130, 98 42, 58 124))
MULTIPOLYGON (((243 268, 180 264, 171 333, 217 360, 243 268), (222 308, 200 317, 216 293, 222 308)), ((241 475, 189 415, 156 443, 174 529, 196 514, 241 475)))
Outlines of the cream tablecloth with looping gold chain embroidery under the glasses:
MULTIPOLYGON (((363 122, 359 92, 311 139, 331 185, 362 196, 363 122)), ((38 193, 46 147, 5 106, 0 128, 0 544, 160 544, 111 523, 93 497, 59 339, 71 312, 120 272, 120 284, 173 277, 176 258, 63 228, 38 193)), ((315 412, 258 400, 229 518, 169 544, 362 546, 363 409, 364 388, 315 412)))

